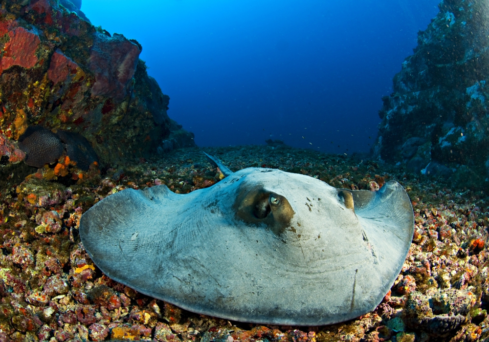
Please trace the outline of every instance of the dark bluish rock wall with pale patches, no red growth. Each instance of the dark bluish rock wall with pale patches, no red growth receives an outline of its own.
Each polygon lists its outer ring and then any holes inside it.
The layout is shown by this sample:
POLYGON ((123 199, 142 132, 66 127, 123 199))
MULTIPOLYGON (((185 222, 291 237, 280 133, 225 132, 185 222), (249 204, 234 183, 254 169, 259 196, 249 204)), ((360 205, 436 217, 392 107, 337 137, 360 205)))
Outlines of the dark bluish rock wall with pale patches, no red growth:
POLYGON ((489 174, 489 5, 445 0, 439 8, 382 98, 374 155, 480 187, 489 174))

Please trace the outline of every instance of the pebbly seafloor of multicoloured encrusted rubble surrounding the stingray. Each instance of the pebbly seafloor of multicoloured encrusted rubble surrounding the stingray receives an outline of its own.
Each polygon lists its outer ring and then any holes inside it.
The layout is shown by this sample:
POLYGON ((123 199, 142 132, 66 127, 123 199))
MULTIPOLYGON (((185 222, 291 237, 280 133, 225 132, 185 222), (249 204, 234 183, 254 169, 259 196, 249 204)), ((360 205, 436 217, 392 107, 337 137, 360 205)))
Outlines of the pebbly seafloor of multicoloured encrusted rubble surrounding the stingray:
POLYGON ((203 150, 232 171, 278 168, 353 190, 400 182, 413 204, 415 233, 402 271, 377 309, 328 326, 248 324, 180 310, 104 276, 80 242, 81 214, 126 188, 166 184, 187 193, 219 181, 200 149, 183 149, 100 174, 91 170, 76 182, 65 177, 65 185, 47 180, 53 172, 44 169, 1 192, 0 342, 489 339, 487 194, 452 190, 440 180, 358 156, 282 145, 203 150))

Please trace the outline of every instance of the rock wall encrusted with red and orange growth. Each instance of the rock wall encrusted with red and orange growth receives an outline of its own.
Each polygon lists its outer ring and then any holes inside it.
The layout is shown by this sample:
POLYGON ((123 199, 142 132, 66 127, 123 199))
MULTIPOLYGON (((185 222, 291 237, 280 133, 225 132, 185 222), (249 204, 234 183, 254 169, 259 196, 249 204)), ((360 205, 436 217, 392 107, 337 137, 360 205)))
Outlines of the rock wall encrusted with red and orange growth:
POLYGON ((17 140, 31 126, 79 133, 111 165, 154 155, 172 127, 184 137, 173 148, 195 146, 192 133, 172 126, 170 98, 141 49, 94 27, 68 0, 2 1, 0 165, 25 158, 17 140))

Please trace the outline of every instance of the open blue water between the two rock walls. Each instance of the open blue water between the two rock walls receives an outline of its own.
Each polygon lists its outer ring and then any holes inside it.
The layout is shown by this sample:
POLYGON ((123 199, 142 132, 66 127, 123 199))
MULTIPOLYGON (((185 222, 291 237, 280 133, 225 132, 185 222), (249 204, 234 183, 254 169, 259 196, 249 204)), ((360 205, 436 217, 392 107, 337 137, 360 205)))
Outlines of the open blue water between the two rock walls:
POLYGON ((381 97, 438 0, 83 0, 143 45, 169 116, 199 146, 368 151, 381 97))

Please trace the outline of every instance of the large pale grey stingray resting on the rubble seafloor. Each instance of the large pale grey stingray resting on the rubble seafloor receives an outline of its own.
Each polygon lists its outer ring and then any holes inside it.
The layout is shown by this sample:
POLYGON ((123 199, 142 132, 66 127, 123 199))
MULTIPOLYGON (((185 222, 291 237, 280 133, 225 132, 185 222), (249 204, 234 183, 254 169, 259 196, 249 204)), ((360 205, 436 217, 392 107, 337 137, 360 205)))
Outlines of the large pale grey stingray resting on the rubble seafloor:
POLYGON ((414 232, 399 183, 350 191, 274 169, 231 172, 213 160, 226 177, 209 188, 127 189, 82 215, 81 240, 102 272, 233 321, 324 325, 376 308, 414 232))

